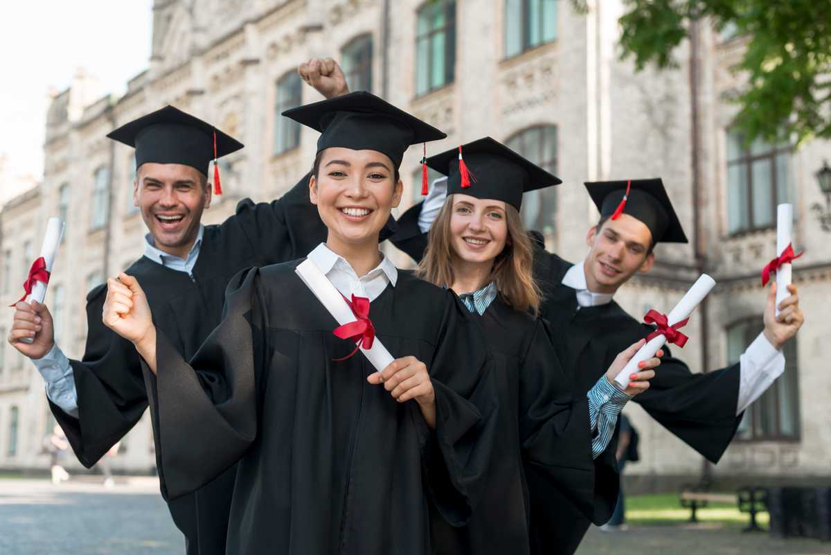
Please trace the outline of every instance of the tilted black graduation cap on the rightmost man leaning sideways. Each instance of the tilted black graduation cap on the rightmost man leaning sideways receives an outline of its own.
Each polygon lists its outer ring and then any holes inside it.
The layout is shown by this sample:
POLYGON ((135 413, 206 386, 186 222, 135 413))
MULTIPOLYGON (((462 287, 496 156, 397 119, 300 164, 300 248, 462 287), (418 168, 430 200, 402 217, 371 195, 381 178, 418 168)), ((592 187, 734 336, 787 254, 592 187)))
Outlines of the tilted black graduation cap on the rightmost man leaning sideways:
POLYGON ((652 233, 653 243, 688 243, 661 178, 587 182, 586 189, 601 216, 616 219, 629 214, 639 219, 652 233))

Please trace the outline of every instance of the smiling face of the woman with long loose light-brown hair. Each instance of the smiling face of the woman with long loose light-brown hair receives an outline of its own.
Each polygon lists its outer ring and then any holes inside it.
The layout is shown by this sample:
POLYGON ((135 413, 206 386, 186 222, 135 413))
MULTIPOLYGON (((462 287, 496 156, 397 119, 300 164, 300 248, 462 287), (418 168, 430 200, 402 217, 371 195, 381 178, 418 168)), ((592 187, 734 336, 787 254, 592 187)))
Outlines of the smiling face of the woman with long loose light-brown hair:
POLYGON ((508 242, 504 201, 454 194, 450 237, 453 253, 465 263, 492 264, 508 242))

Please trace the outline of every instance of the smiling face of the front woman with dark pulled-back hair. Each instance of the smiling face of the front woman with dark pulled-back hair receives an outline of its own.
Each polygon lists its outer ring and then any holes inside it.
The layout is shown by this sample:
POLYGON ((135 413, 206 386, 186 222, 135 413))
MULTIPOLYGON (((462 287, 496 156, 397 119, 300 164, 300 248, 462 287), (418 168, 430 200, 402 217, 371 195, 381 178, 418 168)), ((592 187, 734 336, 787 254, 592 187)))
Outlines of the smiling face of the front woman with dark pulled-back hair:
POLYGON ((365 244, 377 250, 378 233, 401 202, 402 189, 392 161, 376 150, 323 150, 317 176, 309 180, 309 198, 336 252, 365 244))

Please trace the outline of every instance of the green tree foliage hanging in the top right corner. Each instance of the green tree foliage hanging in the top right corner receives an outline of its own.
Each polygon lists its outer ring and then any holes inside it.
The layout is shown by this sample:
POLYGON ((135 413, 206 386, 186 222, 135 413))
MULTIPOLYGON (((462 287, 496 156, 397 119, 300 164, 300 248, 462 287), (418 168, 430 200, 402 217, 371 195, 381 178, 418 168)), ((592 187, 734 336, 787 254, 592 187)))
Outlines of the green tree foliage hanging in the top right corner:
POLYGON ((746 86, 730 98, 748 141, 785 132, 799 144, 831 139, 831 0, 624 0, 622 57, 637 71, 677 66, 691 22, 730 26, 744 43, 746 86))

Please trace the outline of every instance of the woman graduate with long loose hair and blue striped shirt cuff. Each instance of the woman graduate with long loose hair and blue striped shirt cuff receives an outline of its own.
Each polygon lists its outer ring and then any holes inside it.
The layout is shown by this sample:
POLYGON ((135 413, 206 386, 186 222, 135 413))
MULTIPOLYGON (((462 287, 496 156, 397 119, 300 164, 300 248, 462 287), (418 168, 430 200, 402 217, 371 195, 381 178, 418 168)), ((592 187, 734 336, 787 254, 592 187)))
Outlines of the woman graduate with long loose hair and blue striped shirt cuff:
MULTIPOLYGON (((542 477, 588 518, 603 523, 617 499, 617 464, 605 452, 617 415, 645 390, 657 358, 642 365, 627 391, 614 376, 642 345, 621 353, 607 376, 573 398, 548 325, 536 317, 533 247, 519 215, 524 192, 560 180, 486 137, 426 160, 448 175, 448 194, 432 224, 417 275, 446 284, 465 302, 488 337, 499 384, 500 411, 488 482, 491 486, 464 528, 434 519, 437 555, 530 553, 532 513, 526 472, 542 477), (463 157, 461 155, 464 155, 463 157), (599 458, 593 461, 594 458, 599 458), (499 530, 494 536, 491 531, 499 530)), ((556 552, 556 546, 551 553, 556 552)))

